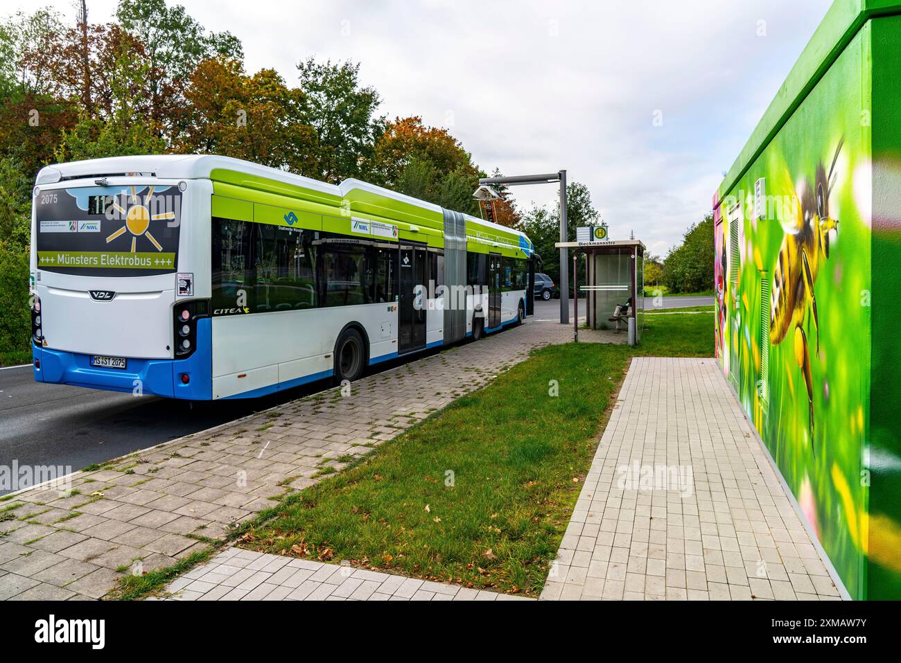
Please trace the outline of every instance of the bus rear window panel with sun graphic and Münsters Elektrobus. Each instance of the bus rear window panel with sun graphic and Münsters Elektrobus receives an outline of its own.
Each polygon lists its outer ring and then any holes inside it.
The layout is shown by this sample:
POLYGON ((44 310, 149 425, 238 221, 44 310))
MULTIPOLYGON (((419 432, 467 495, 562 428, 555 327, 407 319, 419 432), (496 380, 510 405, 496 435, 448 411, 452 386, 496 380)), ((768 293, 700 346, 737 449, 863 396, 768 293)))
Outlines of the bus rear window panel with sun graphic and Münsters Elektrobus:
POLYGON ((84 186, 34 198, 37 268, 91 277, 142 277, 177 269, 177 186, 84 186))

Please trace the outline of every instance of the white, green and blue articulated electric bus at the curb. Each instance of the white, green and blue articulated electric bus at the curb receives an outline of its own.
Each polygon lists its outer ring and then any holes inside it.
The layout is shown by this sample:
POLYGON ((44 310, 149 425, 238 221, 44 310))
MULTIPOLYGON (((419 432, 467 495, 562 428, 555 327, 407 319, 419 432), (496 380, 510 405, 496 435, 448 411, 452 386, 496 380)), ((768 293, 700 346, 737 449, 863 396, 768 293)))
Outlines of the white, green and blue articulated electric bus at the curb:
POLYGON ((42 168, 33 195, 40 382, 253 397, 532 313, 523 233, 359 180, 121 157, 42 168))

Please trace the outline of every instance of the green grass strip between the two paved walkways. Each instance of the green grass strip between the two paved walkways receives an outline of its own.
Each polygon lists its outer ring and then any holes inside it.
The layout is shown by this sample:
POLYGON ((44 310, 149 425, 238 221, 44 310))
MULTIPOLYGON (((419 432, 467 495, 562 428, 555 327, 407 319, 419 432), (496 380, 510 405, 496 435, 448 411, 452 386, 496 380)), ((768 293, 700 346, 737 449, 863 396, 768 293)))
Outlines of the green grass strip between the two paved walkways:
POLYGON ((636 349, 537 350, 341 474, 287 497, 243 545, 538 595, 630 359, 713 350, 705 315, 647 321, 636 349), (549 395, 551 380, 558 397, 549 395))

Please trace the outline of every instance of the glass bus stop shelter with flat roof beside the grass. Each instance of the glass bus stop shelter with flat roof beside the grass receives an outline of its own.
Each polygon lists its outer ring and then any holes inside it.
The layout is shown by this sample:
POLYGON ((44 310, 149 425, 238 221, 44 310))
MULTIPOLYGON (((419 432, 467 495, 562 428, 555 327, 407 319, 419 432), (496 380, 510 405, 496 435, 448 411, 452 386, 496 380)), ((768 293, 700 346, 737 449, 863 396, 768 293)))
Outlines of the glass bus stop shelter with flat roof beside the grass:
POLYGON ((587 328, 628 334, 629 345, 641 341, 644 328, 644 244, 638 240, 567 241, 558 242, 556 246, 572 253, 576 341, 578 298, 582 295, 587 304, 587 328), (580 256, 584 257, 583 269, 579 268, 580 256))

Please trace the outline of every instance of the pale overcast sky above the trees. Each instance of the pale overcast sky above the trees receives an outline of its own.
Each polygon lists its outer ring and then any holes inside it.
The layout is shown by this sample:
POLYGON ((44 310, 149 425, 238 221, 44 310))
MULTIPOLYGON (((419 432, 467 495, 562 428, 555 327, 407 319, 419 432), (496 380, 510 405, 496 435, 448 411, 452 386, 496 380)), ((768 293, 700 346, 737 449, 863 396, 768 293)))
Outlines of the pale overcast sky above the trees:
MULTIPOLYGON (((73 0, 45 3, 74 15, 73 0)), ((612 239, 665 254, 709 209, 831 0, 184 0, 246 67, 296 81, 311 55, 362 65, 388 117, 422 115, 505 175, 568 170, 612 239), (655 120, 657 122, 655 123, 655 120)), ((38 3, 7 0, 31 11, 38 3)), ((116 0, 88 0, 109 20, 116 0)), ((514 189, 525 208, 554 185, 514 189)))

